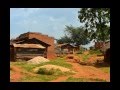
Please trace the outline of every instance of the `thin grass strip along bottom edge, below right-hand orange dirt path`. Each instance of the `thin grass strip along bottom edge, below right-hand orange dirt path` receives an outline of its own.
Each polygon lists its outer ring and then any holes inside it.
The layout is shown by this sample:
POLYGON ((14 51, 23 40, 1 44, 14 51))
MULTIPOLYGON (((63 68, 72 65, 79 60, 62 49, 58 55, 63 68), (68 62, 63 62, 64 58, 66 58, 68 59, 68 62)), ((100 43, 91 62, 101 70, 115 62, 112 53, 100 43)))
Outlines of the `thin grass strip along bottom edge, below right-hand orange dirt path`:
POLYGON ((106 82, 106 80, 102 80, 102 79, 86 79, 86 78, 73 78, 73 77, 69 77, 66 81, 64 82, 106 82))

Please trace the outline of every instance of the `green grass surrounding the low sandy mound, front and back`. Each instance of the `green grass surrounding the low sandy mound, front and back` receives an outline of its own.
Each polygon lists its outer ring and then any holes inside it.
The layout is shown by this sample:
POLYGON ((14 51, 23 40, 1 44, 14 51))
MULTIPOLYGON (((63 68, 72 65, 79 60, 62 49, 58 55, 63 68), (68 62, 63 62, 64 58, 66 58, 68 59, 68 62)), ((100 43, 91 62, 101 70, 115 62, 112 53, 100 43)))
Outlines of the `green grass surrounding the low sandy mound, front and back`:
POLYGON ((26 61, 10 62, 10 66, 15 65, 15 66, 19 66, 23 69, 23 72, 22 72, 23 78, 21 78, 21 80, 19 80, 20 82, 47 82, 47 81, 54 80, 54 79, 58 78, 59 76, 68 76, 68 75, 73 74, 71 72, 63 73, 63 72, 60 72, 59 70, 54 71, 53 74, 51 74, 52 71, 47 72, 47 75, 44 74, 44 73, 46 73, 44 70, 43 71, 41 70, 40 72, 42 72, 42 73, 36 74, 36 76, 31 76, 28 73, 26 73, 26 72, 30 72, 30 73, 35 74, 33 72, 34 68, 40 67, 40 66, 43 66, 43 65, 47 65, 47 64, 63 66, 63 67, 66 67, 66 68, 72 68, 72 65, 66 63, 63 58, 57 58, 55 60, 51 60, 50 62, 45 62, 45 63, 41 63, 41 64, 37 64, 37 65, 27 64, 26 61))

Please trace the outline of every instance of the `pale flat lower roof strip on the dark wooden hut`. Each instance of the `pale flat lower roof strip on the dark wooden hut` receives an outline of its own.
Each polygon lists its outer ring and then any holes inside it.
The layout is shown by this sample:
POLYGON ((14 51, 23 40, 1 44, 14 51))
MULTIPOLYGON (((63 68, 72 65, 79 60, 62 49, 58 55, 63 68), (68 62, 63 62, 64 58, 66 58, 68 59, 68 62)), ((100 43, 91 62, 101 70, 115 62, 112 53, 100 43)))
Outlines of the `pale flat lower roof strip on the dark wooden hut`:
POLYGON ((45 47, 40 44, 13 44, 14 47, 21 47, 21 48, 42 48, 45 47))

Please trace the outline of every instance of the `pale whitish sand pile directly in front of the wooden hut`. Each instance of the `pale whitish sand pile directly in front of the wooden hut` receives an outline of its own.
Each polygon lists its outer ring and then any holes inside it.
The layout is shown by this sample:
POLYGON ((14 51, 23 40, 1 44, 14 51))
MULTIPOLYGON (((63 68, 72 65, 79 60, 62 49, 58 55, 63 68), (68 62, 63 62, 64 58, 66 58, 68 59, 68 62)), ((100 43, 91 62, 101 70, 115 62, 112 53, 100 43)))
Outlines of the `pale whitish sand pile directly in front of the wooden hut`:
POLYGON ((30 59, 28 60, 28 64, 40 64, 40 63, 44 63, 44 62, 49 62, 50 60, 44 58, 44 57, 41 57, 41 56, 37 56, 37 57, 34 57, 33 59, 30 59))

